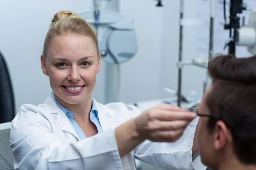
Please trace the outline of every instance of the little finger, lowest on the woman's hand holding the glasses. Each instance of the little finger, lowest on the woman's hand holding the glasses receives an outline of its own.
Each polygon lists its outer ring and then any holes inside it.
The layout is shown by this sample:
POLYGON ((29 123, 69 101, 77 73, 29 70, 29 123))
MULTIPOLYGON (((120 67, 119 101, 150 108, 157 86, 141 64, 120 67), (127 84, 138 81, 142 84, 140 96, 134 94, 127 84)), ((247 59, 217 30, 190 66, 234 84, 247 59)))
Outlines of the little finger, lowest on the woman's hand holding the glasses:
POLYGON ((169 130, 169 131, 158 131, 155 134, 152 134, 153 139, 157 141, 175 141, 182 136, 183 131, 185 129, 180 130, 169 130))

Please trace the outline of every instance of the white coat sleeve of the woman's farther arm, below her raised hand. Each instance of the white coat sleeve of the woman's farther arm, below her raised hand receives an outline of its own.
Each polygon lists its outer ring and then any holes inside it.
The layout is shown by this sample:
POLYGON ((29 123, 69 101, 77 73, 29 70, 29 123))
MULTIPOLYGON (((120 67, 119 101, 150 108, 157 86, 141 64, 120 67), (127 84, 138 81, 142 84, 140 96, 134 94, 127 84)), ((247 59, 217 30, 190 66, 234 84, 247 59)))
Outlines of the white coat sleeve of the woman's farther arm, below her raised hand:
MULTIPOLYGON (((131 118, 140 115, 139 109, 130 107, 133 108, 130 109, 131 118)), ((197 125, 198 118, 193 119, 183 131, 182 136, 175 142, 160 143, 145 140, 135 148, 135 157, 163 169, 193 170, 192 155, 196 153, 197 133, 195 129, 197 125)))

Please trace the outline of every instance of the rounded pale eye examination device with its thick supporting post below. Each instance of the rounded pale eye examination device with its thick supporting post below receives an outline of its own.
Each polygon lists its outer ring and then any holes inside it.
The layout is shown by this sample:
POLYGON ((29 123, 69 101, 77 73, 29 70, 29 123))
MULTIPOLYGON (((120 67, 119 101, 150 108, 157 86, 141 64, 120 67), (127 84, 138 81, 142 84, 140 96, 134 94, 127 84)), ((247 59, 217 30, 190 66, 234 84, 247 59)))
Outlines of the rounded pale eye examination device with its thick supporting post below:
POLYGON ((99 40, 99 52, 107 63, 105 71, 105 103, 119 101, 120 64, 127 62, 137 53, 137 36, 131 20, 125 19, 119 11, 119 1, 110 0, 100 10, 101 0, 93 0, 93 11, 78 12, 79 16, 93 24, 99 40), (103 36, 99 28, 104 28, 103 36))

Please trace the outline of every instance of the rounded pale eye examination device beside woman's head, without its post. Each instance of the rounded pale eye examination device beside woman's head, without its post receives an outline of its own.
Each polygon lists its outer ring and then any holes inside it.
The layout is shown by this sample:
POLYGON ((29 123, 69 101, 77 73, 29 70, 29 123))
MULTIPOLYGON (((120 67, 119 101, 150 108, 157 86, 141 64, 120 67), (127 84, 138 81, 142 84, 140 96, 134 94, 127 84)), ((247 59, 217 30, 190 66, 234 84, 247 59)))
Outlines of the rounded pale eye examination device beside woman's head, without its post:
POLYGON ((127 62, 137 53, 137 36, 131 20, 111 10, 100 10, 101 0, 93 0, 94 10, 78 13, 96 28, 99 52, 108 64, 127 62), (100 35, 99 28, 104 29, 100 35))

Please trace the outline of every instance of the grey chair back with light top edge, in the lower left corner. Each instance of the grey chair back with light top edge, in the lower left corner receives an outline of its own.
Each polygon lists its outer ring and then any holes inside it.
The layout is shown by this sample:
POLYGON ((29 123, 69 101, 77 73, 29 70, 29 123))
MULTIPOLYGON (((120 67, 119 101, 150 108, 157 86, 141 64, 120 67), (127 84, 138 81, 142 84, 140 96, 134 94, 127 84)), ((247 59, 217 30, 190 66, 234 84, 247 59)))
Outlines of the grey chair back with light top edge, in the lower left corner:
POLYGON ((14 156, 10 145, 11 122, 0 123, 0 170, 14 170, 14 156))

